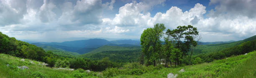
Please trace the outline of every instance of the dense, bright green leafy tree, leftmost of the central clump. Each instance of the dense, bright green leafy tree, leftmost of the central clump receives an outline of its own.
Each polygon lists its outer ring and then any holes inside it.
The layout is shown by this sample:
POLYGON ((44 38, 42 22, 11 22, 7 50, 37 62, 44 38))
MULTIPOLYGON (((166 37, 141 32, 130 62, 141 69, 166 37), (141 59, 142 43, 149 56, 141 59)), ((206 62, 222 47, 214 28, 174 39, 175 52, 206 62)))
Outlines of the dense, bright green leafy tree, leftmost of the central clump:
POLYGON ((160 59, 161 40, 163 37, 164 24, 155 24, 153 28, 148 28, 141 34, 141 49, 146 55, 147 65, 152 63, 156 66, 156 59, 160 59))

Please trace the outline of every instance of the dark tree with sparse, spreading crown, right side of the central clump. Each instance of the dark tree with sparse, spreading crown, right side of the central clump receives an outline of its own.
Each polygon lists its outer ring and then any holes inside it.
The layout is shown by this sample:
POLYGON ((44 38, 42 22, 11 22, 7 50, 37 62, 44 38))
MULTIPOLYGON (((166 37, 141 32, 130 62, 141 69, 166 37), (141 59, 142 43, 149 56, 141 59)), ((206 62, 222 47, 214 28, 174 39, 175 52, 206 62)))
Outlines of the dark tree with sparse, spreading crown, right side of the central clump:
POLYGON ((166 34, 168 36, 173 37, 173 39, 176 41, 175 47, 179 49, 179 51, 181 52, 181 53, 176 53, 177 55, 176 64, 181 63, 183 56, 187 55, 187 52, 189 51, 191 45, 192 46, 197 45, 197 42, 194 41, 193 39, 193 36, 198 35, 197 28, 191 25, 178 26, 177 29, 173 29, 173 30, 167 29, 166 34), (183 38, 184 38, 184 41, 182 42, 181 39, 183 38))

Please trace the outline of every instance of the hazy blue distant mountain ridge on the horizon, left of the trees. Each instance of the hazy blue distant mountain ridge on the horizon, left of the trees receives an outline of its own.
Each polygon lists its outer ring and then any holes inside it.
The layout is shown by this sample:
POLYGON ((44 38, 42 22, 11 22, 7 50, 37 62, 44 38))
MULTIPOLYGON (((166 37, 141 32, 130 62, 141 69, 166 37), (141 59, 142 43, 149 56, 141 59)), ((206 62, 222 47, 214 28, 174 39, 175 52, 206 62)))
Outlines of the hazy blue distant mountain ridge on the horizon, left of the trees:
POLYGON ((76 40, 76 41, 64 41, 64 42, 37 42, 32 43, 38 47, 44 48, 45 46, 51 46, 56 49, 62 49, 65 51, 77 52, 79 54, 85 54, 100 46, 140 46, 140 41, 124 39, 124 40, 114 40, 108 41, 105 39, 87 39, 87 40, 76 40), (44 46, 44 47, 43 47, 44 46))

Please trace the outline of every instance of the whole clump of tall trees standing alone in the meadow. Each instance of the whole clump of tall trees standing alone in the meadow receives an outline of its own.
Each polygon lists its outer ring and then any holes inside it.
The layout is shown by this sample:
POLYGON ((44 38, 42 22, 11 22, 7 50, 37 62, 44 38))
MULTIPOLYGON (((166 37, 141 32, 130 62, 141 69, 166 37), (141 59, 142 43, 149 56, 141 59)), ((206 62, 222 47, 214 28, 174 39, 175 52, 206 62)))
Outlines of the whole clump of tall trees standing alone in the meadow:
MULTIPOLYGON (((160 64, 163 60, 166 66, 167 63, 179 65, 184 62, 184 57, 188 55, 189 49, 197 46, 197 41, 195 41, 198 36, 196 27, 191 25, 178 26, 177 29, 167 29, 164 33, 165 29, 164 24, 155 24, 153 28, 145 29, 141 34, 141 49, 143 55, 146 56, 147 66, 156 66, 156 63, 160 64), (167 37, 164 37, 164 34, 167 37), (163 37, 164 41, 161 41, 160 39, 163 37)), ((191 55, 192 52, 190 57, 191 55)))

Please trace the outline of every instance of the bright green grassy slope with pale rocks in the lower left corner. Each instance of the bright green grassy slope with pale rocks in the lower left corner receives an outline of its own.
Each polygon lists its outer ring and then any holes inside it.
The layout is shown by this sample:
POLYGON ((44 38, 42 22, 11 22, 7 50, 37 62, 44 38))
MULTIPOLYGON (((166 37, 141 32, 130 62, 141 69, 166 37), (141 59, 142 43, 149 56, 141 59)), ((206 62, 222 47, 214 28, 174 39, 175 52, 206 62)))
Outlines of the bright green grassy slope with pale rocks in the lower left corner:
MULTIPOLYGON (((38 65, 37 61, 0 54, 0 78, 75 78, 77 76, 101 76, 97 72, 85 73, 84 70, 68 71, 54 70, 54 68, 38 65), (30 61, 33 61, 31 63, 30 61), (9 64, 10 66, 7 66, 9 64), (27 66, 29 69, 18 69, 17 66, 27 66)), ((40 62, 41 63, 41 62, 40 62)))

